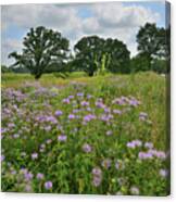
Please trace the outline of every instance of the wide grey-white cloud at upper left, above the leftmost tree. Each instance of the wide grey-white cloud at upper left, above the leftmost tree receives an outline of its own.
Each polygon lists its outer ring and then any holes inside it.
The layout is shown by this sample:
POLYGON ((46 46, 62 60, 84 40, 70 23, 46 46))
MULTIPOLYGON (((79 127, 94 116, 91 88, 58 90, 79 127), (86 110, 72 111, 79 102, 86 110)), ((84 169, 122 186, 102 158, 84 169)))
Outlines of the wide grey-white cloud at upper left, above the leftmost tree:
MULTIPOLYGON (((72 7, 54 4, 3 5, 2 20, 7 27, 16 25, 21 28, 45 25, 49 27, 67 27, 75 22, 76 11, 72 7)), ((77 18, 76 18, 77 20, 77 18)), ((74 24, 72 24, 74 26, 74 24)))

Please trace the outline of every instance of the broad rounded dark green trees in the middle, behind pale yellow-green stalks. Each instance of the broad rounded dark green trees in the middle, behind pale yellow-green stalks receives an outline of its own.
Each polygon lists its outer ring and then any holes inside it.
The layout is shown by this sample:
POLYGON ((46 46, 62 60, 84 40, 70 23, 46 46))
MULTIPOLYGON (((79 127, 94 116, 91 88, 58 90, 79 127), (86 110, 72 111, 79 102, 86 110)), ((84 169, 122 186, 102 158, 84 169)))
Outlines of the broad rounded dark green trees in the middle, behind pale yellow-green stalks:
POLYGON ((103 67, 114 73, 129 72, 129 51, 117 39, 84 37, 75 45, 74 50, 75 65, 89 76, 103 67))

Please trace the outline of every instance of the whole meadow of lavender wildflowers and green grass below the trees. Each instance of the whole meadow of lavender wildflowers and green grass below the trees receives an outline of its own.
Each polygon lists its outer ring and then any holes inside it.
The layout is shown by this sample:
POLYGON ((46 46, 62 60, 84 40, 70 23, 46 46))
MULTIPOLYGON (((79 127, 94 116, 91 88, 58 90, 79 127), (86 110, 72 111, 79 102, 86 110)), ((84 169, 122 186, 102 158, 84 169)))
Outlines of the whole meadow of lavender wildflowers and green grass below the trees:
POLYGON ((169 193, 165 77, 4 74, 1 108, 2 191, 169 193))

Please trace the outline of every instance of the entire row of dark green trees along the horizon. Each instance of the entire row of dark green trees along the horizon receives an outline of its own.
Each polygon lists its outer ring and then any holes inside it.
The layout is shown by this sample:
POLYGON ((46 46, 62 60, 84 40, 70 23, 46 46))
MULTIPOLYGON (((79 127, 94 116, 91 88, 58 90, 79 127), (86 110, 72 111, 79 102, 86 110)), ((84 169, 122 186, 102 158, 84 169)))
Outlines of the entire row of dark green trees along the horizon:
POLYGON ((169 35, 167 29, 147 23, 140 27, 136 41, 138 54, 130 59, 126 45, 118 39, 103 39, 98 36, 83 37, 74 46, 74 55, 70 41, 61 33, 39 26, 30 28, 23 40, 22 53, 12 52, 15 59, 10 67, 1 66, 2 73, 30 73, 36 79, 43 73, 68 73, 84 71, 89 76, 95 74, 136 73, 169 71, 169 35))

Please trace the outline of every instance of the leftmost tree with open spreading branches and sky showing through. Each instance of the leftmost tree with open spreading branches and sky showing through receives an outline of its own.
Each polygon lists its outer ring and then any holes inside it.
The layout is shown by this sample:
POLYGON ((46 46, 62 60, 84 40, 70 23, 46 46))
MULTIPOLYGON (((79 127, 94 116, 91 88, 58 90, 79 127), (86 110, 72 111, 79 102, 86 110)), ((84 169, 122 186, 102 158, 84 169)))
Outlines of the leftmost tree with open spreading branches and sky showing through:
POLYGON ((46 68, 62 64, 67 59, 68 40, 59 31, 42 26, 30 28, 23 41, 22 54, 12 52, 15 59, 12 66, 27 67, 38 79, 46 68))

